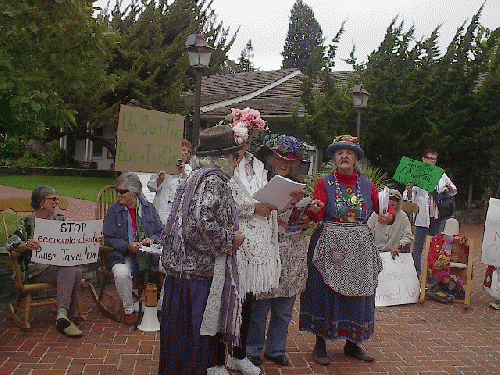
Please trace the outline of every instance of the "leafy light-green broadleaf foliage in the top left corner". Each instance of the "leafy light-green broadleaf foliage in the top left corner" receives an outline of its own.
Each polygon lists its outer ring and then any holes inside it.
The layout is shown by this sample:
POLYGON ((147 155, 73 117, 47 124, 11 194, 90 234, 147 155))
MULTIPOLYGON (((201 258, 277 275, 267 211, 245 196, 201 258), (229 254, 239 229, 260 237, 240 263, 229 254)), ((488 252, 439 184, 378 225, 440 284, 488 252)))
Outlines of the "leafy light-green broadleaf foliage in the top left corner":
POLYGON ((113 86, 103 67, 115 41, 87 0, 0 2, 0 134, 85 126, 113 86))

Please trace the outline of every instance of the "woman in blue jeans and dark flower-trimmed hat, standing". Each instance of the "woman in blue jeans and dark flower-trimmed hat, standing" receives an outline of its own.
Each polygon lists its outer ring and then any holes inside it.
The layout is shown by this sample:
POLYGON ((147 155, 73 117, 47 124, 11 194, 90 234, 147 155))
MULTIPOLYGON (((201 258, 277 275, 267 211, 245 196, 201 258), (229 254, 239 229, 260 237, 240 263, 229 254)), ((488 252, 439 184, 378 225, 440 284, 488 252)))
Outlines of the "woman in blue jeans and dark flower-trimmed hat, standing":
MULTIPOLYGON (((270 135, 266 137, 256 156, 265 161, 269 178, 279 175, 295 179, 291 173, 301 163, 308 163, 308 150, 306 143, 294 137, 270 135)), ((290 363, 286 354, 288 325, 292 319, 295 298, 304 291, 307 280, 307 243, 302 233, 302 228, 309 223, 307 216, 302 215, 307 203, 302 208, 297 207, 303 197, 303 190, 292 192, 288 206, 278 216, 281 260, 279 286, 267 293, 257 294, 252 304, 246 350, 248 358, 255 365, 262 364, 260 353, 264 347, 267 359, 280 366, 290 363), (271 315, 266 332, 269 311, 271 315)))

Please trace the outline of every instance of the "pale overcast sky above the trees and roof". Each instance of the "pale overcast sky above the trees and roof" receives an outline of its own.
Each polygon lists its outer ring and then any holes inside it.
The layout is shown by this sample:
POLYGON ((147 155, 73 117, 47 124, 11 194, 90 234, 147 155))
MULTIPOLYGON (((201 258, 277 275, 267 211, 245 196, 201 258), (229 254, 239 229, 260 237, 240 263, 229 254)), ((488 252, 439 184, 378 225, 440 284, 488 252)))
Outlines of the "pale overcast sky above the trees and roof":
MULTIPOLYGON (((105 5, 99 0, 94 6, 105 5)), ((404 21, 407 31, 415 26, 415 37, 430 36, 439 25, 440 49, 446 47, 457 28, 470 20, 484 0, 303 0, 314 12, 323 30, 326 43, 337 34, 343 21, 345 32, 341 36, 335 70, 351 70, 342 59, 349 57, 356 47, 358 63, 382 42, 387 27, 394 17, 404 21)), ((500 0, 486 0, 480 22, 496 29, 500 27, 500 0)), ((235 32, 236 41, 229 52, 229 58, 237 61, 249 39, 254 48, 253 64, 260 70, 280 69, 283 60, 281 52, 288 32, 290 12, 295 0, 213 0, 212 8, 217 19, 235 32)), ((398 22, 399 24, 399 22, 398 22)))

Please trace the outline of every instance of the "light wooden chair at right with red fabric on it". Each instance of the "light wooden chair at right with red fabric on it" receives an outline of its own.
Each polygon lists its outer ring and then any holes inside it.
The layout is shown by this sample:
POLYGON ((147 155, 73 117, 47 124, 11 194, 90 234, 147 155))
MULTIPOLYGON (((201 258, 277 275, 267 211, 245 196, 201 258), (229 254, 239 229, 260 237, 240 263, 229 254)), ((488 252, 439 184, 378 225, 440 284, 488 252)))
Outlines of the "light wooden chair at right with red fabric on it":
MULTIPOLYGON (((427 236, 424 246, 424 252, 422 254, 422 275, 420 276, 420 298, 419 302, 423 303, 426 298, 429 298, 427 293, 428 288, 428 276, 431 270, 428 265, 429 249, 431 247, 432 240, 435 237, 427 236)), ((465 279, 465 295, 463 299, 454 298, 453 302, 462 303, 464 308, 467 309, 470 306, 471 291, 472 291, 472 278, 473 278, 473 266, 474 266, 474 240, 467 239, 468 243, 468 254, 461 259, 454 259, 454 254, 452 250, 452 261, 450 262, 450 275, 455 275, 458 277, 463 277, 465 279), (454 261, 457 260, 457 261, 454 261)), ((456 256, 455 256, 456 258, 456 256)))

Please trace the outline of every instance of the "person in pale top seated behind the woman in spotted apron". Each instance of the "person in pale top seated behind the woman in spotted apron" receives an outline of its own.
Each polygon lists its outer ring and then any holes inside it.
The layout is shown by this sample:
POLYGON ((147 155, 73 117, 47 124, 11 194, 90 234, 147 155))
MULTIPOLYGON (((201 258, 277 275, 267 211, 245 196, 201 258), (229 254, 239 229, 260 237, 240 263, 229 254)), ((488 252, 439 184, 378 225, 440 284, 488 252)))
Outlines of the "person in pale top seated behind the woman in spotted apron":
POLYGON ((410 244, 413 241, 410 220, 406 213, 401 210, 403 197, 396 189, 389 190, 389 205, 396 211, 394 223, 391 225, 377 224, 380 216, 374 212, 368 219, 368 226, 375 235, 375 245, 382 252, 390 251, 394 258, 400 252, 410 252, 410 244))

